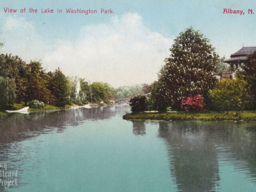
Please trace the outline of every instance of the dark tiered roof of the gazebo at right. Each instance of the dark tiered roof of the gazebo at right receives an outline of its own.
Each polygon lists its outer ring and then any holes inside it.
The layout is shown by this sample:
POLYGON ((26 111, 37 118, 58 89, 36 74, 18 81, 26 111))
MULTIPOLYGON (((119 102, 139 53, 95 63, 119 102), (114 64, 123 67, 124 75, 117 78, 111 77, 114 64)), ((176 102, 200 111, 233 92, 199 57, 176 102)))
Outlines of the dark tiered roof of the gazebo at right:
POLYGON ((242 47, 240 50, 238 50, 237 52, 235 52, 234 54, 231 54, 230 58, 224 62, 226 63, 232 63, 232 62, 236 62, 236 61, 244 61, 247 59, 247 56, 256 51, 256 46, 255 47, 242 47))

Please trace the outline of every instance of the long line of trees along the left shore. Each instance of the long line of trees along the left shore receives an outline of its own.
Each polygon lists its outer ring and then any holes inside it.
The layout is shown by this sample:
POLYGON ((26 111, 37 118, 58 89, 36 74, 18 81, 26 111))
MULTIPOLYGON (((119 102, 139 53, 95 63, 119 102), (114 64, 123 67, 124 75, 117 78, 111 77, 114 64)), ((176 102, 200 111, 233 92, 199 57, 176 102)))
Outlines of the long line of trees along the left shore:
POLYGON ((65 76, 60 68, 46 72, 41 61, 27 64, 18 56, 0 54, 0 109, 10 108, 14 103, 28 105, 32 100, 60 107, 108 103, 142 93, 142 85, 113 88, 104 82, 90 83, 84 78, 65 76))

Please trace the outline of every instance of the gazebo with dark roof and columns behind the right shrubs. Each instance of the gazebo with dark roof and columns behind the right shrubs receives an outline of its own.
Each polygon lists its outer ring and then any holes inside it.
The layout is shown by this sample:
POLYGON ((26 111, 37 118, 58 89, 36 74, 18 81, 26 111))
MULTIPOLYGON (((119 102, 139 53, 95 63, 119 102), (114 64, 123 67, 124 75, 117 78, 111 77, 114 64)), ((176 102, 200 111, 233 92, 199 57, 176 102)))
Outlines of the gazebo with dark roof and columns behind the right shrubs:
POLYGON ((233 73, 233 71, 236 71, 238 67, 241 66, 245 60, 247 60, 247 56, 254 51, 256 51, 256 47, 243 46, 242 49, 238 50, 234 54, 231 54, 230 58, 224 62, 230 64, 231 72, 233 73), (234 65, 236 66, 235 70, 234 65))

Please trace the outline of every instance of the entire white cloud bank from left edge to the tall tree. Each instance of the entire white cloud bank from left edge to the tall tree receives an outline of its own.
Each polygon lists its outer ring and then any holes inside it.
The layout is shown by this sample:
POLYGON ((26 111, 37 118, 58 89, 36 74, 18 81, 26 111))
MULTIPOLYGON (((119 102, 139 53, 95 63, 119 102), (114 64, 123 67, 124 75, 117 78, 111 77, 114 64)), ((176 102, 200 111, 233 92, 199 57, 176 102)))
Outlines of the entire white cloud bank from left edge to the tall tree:
POLYGON ((7 17, 4 21, 0 42, 6 43, 1 52, 17 54, 26 61, 42 59, 48 70, 60 67, 66 75, 113 86, 156 80, 172 45, 172 39, 150 31, 136 13, 83 26, 72 42, 43 40, 23 18, 7 17))

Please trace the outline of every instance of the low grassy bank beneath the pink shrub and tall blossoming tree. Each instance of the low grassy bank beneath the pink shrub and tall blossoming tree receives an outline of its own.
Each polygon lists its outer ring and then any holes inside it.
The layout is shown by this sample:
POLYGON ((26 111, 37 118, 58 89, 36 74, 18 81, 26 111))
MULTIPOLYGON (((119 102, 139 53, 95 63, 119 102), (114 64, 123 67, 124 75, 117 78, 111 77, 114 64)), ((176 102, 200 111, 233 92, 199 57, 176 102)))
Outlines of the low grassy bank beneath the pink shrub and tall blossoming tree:
POLYGON ((140 112, 123 116, 125 120, 253 120, 256 121, 256 111, 236 112, 140 112))

